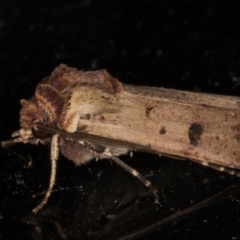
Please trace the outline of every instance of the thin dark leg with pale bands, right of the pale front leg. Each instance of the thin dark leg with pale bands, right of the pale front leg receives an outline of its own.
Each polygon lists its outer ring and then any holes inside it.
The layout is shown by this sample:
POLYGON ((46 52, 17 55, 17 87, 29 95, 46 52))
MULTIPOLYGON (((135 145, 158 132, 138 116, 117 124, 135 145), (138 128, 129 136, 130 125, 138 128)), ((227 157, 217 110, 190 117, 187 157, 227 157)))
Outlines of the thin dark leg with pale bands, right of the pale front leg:
POLYGON ((127 172, 131 173, 134 177, 138 178, 138 180, 140 182, 142 182, 146 187, 148 187, 150 189, 150 191, 152 192, 152 194, 154 195, 154 203, 158 204, 159 203, 159 199, 158 199, 158 191, 156 188, 154 188, 152 186, 152 184, 145 178, 143 177, 139 172, 137 172, 135 169, 131 168, 130 166, 128 166, 126 163, 124 163, 123 161, 121 161, 119 158, 117 158, 116 156, 112 155, 111 156, 111 160, 114 161, 116 164, 118 164, 119 166, 121 166, 123 169, 125 169, 127 172))

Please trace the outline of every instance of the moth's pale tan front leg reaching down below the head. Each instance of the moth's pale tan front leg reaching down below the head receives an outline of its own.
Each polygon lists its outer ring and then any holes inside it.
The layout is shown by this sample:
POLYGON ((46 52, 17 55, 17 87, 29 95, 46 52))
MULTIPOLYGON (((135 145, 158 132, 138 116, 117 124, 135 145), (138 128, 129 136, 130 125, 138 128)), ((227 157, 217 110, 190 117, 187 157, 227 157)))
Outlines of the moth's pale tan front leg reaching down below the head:
POLYGON ((56 167, 57 167, 57 159, 58 159, 58 135, 55 134, 52 136, 52 142, 51 142, 51 175, 50 175, 50 181, 48 189, 45 193, 45 196, 43 200, 32 210, 33 213, 37 213, 41 208, 47 203, 48 198, 51 195, 53 185, 55 183, 56 179, 56 167))

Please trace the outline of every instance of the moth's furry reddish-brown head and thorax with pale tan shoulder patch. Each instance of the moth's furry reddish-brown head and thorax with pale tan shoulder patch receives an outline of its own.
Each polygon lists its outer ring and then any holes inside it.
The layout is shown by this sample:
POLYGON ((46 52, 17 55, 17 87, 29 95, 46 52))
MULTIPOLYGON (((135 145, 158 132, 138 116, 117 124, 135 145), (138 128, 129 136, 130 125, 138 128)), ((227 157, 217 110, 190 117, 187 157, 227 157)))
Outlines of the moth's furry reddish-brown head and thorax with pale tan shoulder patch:
POLYGON ((115 111, 121 91, 121 83, 105 70, 83 72, 61 64, 37 85, 31 100, 21 100, 21 127, 43 123, 75 132, 81 117, 115 111))

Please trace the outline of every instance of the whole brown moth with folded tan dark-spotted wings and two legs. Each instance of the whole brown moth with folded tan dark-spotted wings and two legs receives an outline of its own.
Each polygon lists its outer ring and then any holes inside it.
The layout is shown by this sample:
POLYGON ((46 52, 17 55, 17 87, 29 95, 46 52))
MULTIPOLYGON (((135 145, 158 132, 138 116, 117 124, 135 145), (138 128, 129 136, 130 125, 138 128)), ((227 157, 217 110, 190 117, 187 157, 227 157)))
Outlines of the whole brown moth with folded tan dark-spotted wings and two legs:
POLYGON ((240 169, 238 97, 125 85, 105 70, 83 72, 60 65, 21 105, 21 129, 13 141, 51 142, 50 185, 34 212, 51 194, 58 150, 79 165, 93 158, 112 159, 155 196, 150 182, 116 156, 143 150, 218 165, 220 170, 240 169), (89 140, 76 137, 81 132, 89 140))

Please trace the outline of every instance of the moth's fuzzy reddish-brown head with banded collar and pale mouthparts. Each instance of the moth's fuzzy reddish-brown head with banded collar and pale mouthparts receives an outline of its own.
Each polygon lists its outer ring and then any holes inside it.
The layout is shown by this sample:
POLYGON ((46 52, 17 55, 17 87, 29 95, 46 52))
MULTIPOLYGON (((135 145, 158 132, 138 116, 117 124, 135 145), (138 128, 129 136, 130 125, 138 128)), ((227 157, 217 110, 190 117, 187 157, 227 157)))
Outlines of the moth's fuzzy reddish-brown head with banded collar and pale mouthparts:
POLYGON ((41 82, 37 85, 34 96, 30 100, 20 101, 21 129, 13 134, 14 137, 29 142, 32 139, 44 140, 49 137, 37 130, 37 124, 57 126, 64 101, 56 88, 52 85, 41 82), (28 141, 27 141, 28 140, 28 141))

